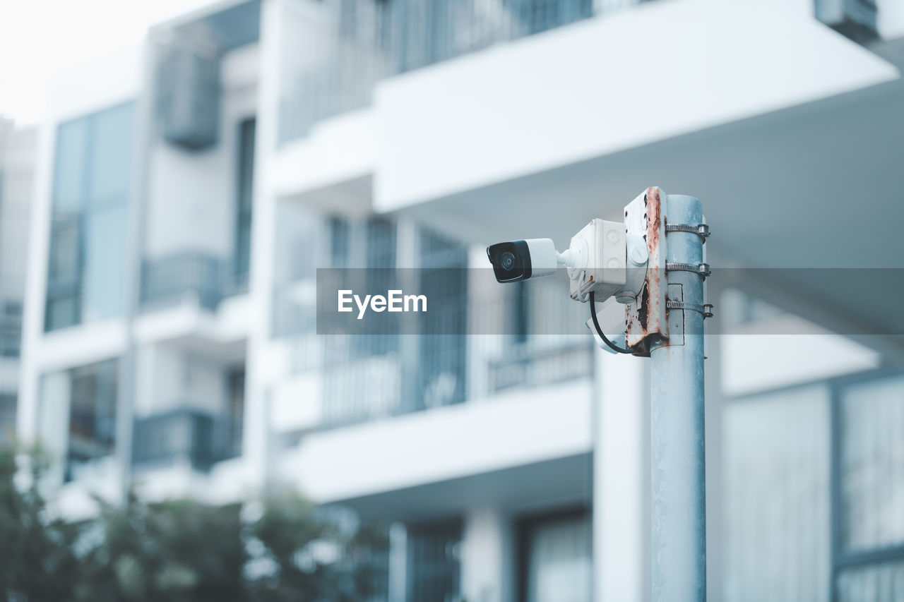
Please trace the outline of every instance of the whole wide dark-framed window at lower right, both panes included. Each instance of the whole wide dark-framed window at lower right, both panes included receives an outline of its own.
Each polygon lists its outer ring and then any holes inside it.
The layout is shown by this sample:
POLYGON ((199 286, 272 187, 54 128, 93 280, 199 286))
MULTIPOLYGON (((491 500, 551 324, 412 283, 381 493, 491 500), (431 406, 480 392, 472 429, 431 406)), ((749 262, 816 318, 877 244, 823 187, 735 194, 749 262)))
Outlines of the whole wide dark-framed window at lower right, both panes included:
POLYGON ((904 377, 843 377, 725 414, 724 597, 904 599, 904 377))

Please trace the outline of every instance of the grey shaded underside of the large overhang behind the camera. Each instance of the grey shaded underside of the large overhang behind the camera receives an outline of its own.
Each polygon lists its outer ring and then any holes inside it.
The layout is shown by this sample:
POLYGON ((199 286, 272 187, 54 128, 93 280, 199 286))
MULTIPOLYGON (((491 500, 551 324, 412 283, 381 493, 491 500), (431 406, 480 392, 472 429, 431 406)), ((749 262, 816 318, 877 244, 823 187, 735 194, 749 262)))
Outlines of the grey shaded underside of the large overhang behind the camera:
POLYGON ((901 165, 896 80, 404 212, 475 243, 552 237, 564 247, 589 219, 620 219, 648 185, 692 193, 713 231, 710 263, 763 268, 718 276, 743 277, 731 284, 904 359, 901 165))

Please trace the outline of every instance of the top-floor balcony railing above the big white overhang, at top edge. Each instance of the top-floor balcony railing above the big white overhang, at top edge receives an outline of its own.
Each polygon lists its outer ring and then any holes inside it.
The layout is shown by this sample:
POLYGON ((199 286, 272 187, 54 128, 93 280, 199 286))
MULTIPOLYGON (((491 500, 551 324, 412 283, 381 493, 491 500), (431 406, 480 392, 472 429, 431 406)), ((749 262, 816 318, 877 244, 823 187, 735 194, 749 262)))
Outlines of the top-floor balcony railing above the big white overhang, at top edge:
POLYGON ((370 104, 382 78, 640 0, 284 0, 280 142, 370 104))

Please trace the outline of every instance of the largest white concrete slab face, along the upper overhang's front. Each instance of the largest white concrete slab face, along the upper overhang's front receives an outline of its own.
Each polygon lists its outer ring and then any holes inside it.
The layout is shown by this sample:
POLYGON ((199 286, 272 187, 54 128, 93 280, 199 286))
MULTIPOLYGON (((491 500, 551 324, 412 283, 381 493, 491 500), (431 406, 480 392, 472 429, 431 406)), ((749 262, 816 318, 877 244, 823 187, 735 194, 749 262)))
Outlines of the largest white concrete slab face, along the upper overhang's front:
POLYGON ((898 77, 798 2, 639 5, 383 80, 374 203, 391 211, 898 77))

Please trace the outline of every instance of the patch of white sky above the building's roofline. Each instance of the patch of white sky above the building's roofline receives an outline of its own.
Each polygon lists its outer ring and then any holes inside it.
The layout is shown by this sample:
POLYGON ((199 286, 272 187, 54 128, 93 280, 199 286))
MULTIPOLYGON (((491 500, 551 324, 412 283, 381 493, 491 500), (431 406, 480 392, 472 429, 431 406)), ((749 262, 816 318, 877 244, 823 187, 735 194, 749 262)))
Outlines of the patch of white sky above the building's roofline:
POLYGON ((0 117, 42 118, 47 80, 139 42, 147 28, 212 0, 0 0, 0 117))

